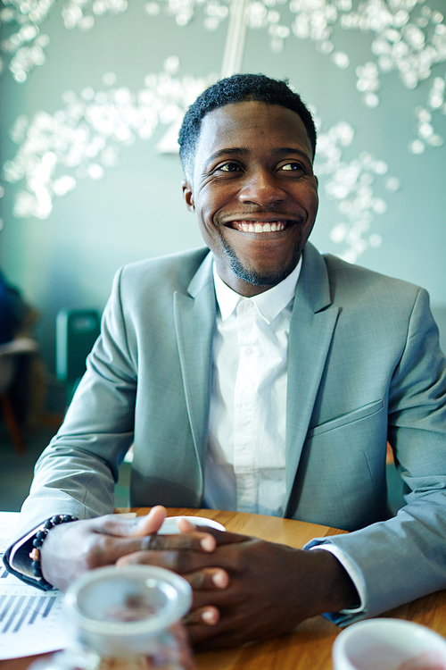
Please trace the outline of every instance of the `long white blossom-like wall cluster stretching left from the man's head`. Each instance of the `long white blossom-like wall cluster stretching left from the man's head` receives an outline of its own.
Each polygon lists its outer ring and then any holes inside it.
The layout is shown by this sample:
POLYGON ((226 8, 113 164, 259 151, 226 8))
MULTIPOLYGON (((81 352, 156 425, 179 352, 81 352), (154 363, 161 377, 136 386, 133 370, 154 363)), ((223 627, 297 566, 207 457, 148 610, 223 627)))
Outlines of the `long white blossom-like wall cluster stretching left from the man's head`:
POLYGON ((164 70, 147 75, 144 88, 136 92, 112 88, 116 75, 107 72, 103 90, 87 87, 80 95, 66 91, 64 106, 56 113, 39 111, 32 120, 21 115, 10 133, 20 147, 3 167, 4 180, 25 184, 13 214, 46 219, 54 197, 69 193, 79 179, 102 179, 117 165, 120 146, 152 137, 159 123, 178 124, 195 97, 217 80, 216 75, 176 79, 178 64, 177 56, 170 56, 164 70))

